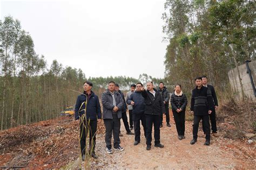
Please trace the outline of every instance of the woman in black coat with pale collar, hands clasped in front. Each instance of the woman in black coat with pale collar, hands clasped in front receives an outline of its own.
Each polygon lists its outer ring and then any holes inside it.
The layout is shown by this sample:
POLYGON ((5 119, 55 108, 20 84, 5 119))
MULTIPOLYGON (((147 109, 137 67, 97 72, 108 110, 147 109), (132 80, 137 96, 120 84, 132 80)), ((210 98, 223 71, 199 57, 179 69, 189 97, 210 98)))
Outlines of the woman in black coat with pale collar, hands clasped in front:
POLYGON ((185 111, 187 105, 187 97, 181 91, 181 85, 179 84, 175 86, 174 93, 172 93, 171 105, 176 129, 178 132, 178 138, 180 140, 185 139, 185 111))

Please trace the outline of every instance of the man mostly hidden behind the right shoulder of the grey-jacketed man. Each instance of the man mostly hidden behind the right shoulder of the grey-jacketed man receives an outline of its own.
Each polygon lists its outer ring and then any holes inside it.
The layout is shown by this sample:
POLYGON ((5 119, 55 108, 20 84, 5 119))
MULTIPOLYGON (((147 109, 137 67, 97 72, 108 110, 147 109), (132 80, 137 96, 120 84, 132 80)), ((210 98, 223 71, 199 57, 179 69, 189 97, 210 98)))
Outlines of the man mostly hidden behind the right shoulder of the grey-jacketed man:
MULTIPOLYGON (((132 133, 130 128, 129 128, 128 119, 127 119, 127 115, 126 115, 127 106, 126 106, 125 99, 124 99, 124 93, 119 90, 119 84, 117 84, 117 83, 116 83, 116 91, 121 94, 122 99, 124 100, 124 106, 122 108, 122 119, 123 119, 124 127, 125 127, 125 130, 126 130, 126 134, 133 135, 134 133, 132 133)), ((121 132, 120 132, 119 136, 122 137, 123 134, 121 134, 121 132)))

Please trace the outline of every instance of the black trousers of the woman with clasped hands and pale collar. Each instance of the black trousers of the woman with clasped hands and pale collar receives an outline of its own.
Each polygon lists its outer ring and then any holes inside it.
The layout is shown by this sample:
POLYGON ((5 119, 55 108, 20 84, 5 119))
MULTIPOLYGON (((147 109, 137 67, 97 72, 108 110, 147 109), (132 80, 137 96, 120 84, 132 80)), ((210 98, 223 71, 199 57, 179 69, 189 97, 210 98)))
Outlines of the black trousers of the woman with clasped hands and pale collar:
POLYGON ((178 135, 185 134, 185 111, 172 111, 178 135))

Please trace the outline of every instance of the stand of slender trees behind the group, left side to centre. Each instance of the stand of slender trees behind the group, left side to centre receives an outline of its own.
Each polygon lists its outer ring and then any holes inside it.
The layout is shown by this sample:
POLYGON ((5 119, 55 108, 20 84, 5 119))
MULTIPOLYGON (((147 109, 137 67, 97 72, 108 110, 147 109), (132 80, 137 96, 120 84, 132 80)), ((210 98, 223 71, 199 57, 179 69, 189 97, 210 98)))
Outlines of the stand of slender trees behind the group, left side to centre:
POLYGON ((0 22, 0 61, 1 130, 55 118, 65 107, 75 104, 85 80, 92 81, 99 97, 110 80, 122 90, 139 81, 161 81, 147 74, 141 74, 139 79, 86 78, 81 69, 63 67, 57 60, 48 66, 45 57, 35 52, 32 37, 11 16, 0 22))

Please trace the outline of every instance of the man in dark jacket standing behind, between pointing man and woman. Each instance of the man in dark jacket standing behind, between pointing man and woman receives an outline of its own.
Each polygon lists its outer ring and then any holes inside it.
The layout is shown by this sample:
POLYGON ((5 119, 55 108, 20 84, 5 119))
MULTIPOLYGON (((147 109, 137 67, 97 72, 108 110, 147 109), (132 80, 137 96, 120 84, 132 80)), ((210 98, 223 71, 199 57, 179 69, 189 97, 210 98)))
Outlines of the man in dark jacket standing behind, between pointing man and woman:
MULTIPOLYGON (((163 101, 164 101, 166 125, 168 127, 171 127, 171 125, 170 125, 170 115, 169 115, 169 100, 170 100, 169 91, 164 86, 163 82, 159 83, 158 91, 160 92, 161 97, 163 98, 163 101)), ((163 127, 163 114, 160 114, 160 127, 163 127)))

